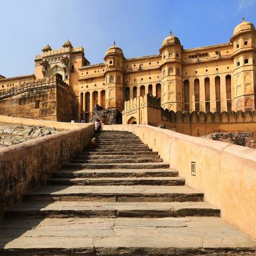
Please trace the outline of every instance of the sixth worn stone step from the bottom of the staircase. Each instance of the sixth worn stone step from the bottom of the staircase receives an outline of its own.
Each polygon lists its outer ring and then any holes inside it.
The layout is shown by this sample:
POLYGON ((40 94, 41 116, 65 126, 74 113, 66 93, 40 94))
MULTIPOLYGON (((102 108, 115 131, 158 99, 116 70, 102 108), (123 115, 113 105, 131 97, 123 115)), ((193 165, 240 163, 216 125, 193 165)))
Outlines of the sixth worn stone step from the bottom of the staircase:
POLYGON ((63 169, 154 169, 154 168, 169 168, 167 163, 97 163, 97 164, 81 164, 67 163, 63 164, 63 169))

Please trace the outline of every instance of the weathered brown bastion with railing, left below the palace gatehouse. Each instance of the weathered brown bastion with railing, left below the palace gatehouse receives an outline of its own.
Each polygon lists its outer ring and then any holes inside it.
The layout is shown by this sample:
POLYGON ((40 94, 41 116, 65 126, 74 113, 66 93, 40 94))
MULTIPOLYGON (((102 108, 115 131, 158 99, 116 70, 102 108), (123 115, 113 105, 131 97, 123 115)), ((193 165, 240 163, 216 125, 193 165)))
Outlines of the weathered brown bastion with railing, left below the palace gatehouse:
POLYGON ((75 97, 59 76, 25 82, 0 91, 0 114, 71 121, 75 97))

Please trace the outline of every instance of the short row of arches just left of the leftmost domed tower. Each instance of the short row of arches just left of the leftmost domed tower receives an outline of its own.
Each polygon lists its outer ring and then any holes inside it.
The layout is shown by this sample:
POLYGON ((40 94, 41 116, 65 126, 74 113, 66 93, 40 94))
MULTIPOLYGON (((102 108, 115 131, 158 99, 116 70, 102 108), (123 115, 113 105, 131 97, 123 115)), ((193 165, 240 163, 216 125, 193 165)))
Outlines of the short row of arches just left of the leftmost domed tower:
POLYGON ((105 90, 101 90, 100 92, 100 99, 99 99, 99 93, 97 90, 94 90, 92 92, 92 95, 90 92, 82 93, 80 94, 80 113, 82 112, 90 112, 90 101, 92 101, 92 106, 98 104, 102 106, 102 108, 105 109, 105 99, 106 94, 105 90))

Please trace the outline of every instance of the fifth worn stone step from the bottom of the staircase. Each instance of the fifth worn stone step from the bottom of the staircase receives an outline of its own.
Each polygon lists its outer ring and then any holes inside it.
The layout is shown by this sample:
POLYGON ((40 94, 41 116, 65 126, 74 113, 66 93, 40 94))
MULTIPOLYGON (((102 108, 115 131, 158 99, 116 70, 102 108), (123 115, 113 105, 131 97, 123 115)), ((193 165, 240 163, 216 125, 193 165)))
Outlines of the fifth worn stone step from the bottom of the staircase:
POLYGON ((176 177, 179 172, 170 169, 100 169, 100 170, 61 170, 53 172, 52 177, 176 177))

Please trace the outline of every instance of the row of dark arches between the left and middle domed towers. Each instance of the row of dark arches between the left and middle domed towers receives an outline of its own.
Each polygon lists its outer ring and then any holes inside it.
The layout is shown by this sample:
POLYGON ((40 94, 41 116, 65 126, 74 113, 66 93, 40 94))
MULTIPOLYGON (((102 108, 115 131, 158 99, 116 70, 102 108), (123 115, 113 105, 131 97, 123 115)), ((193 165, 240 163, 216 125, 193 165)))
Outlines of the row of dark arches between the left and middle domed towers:
MULTIPOLYGON (((153 85, 141 85, 141 86, 136 86, 134 85, 133 88, 130 89, 130 87, 125 88, 125 101, 129 101, 133 98, 136 98, 138 96, 143 97, 146 94, 146 89, 147 93, 150 94, 151 96, 153 95, 153 85), (146 88, 147 86, 147 88, 146 88), (138 95, 138 88, 139 88, 139 95, 138 95), (132 90, 132 91, 131 91, 132 90)), ((161 98, 161 84, 156 84, 155 86, 155 96, 157 98, 161 98)))

